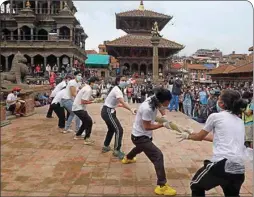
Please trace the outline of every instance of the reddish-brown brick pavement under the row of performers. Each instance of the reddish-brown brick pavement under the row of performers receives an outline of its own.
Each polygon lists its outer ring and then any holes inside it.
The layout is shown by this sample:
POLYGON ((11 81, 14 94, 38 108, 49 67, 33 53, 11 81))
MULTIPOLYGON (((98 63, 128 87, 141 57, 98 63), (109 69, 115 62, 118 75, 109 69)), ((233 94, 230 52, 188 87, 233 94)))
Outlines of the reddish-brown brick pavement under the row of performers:
MULTIPOLYGON (((156 184, 153 165, 141 154, 137 163, 123 165, 111 153, 101 154, 106 125, 100 118, 101 104, 88 110, 96 122, 92 137, 93 147, 62 134, 56 118, 46 119, 47 107, 37 108, 37 114, 19 118, 1 129, 1 195, 2 196, 152 196, 156 184)), ((130 140, 134 116, 124 109, 117 110, 124 128, 123 150, 132 147, 130 140)), ((199 130, 201 125, 181 113, 168 117, 183 126, 199 130)), ((74 124, 73 124, 74 125, 74 124)), ((178 143, 166 129, 155 131, 154 142, 163 151, 168 183, 178 195, 189 195, 193 173, 211 156, 209 142, 178 143)), ((252 196, 251 168, 247 169, 241 193, 252 196)), ((208 192, 222 195, 220 188, 208 192)))

